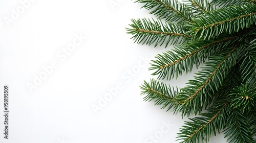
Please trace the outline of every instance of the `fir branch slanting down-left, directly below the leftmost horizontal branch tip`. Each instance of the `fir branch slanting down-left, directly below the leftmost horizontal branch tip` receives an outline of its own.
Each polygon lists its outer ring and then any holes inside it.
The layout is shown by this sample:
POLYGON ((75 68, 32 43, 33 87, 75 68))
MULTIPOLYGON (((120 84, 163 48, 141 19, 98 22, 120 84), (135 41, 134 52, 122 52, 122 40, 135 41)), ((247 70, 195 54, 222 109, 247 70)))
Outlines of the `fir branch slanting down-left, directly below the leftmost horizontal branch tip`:
POLYGON ((204 63, 211 55, 220 52, 220 47, 228 46, 235 42, 238 36, 219 37, 211 41, 188 41, 177 45, 175 50, 167 51, 163 55, 158 54, 157 60, 153 60, 150 70, 156 70, 152 75, 158 75, 158 79, 176 78, 185 71, 190 72, 194 65, 204 63), (211 52, 211 54, 208 54, 211 52), (207 54, 205 54, 207 53, 207 54), (176 68, 174 70, 174 68, 176 68))

